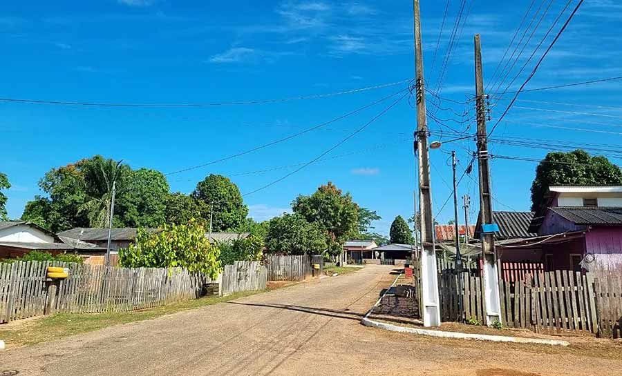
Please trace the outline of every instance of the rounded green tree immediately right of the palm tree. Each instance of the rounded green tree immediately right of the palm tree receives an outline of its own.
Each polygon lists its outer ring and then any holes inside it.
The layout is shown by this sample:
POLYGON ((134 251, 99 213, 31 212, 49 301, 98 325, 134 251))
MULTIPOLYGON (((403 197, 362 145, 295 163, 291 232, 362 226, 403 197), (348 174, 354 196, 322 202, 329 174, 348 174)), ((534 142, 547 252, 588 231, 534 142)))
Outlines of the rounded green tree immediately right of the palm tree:
POLYGON ((123 195, 117 201, 120 220, 127 227, 158 227, 167 223, 169 184, 162 172, 140 168, 129 173, 123 195))

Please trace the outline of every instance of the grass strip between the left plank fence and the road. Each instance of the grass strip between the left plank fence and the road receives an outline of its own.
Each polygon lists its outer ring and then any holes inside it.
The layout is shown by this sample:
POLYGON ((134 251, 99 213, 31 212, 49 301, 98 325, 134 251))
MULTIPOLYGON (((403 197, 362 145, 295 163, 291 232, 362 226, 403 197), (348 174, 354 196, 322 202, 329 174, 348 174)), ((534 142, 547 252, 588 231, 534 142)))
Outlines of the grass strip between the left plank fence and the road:
POLYGON ((56 315, 0 325, 0 339, 6 343, 7 348, 29 346, 67 337, 69 335, 92 332, 93 330, 106 328, 106 326, 155 319, 183 310, 211 306, 212 304, 262 293, 264 291, 266 290, 247 291, 227 297, 202 297, 200 299, 180 301, 178 303, 168 304, 167 306, 132 312, 58 313, 56 315))

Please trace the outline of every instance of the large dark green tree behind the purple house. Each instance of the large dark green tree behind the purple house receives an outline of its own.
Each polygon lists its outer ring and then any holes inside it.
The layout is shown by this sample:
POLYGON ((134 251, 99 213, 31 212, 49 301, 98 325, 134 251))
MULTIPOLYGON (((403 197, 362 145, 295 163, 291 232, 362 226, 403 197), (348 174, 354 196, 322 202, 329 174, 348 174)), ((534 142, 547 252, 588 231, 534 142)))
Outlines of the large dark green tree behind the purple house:
POLYGON ((621 185, 622 171, 605 157, 590 157, 585 150, 549 152, 536 168, 531 184, 531 210, 543 205, 549 186, 621 185))

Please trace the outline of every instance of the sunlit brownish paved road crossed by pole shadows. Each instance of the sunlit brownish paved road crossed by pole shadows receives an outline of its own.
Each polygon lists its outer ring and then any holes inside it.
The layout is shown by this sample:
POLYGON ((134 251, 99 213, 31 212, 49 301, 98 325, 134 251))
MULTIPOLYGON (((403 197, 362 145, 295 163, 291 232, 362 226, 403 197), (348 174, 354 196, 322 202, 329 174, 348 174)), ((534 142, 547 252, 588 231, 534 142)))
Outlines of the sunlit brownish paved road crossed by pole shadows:
POLYGON ((26 375, 614 375, 619 359, 366 328, 390 266, 0 353, 26 375), (613 373, 612 373, 613 372, 613 373))

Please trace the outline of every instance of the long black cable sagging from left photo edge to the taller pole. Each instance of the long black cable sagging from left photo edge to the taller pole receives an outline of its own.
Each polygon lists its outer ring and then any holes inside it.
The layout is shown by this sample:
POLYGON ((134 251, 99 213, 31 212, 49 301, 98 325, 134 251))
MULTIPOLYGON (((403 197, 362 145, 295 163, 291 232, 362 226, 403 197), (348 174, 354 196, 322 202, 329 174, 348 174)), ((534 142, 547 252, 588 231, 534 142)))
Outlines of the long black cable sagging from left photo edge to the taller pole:
POLYGON ((366 86, 364 88, 357 88, 352 90, 344 90, 340 92, 330 92, 326 94, 306 95, 300 97, 288 97, 280 99, 258 99, 254 101, 229 101, 229 102, 208 102, 208 103, 103 103, 103 102, 86 102, 86 101, 57 101, 57 100, 44 100, 44 99, 15 99, 15 98, 0 98, 0 101, 14 102, 14 103, 33 103, 33 104, 54 104, 62 106, 94 106, 94 107, 214 107, 214 106, 240 106, 249 104, 266 104, 266 103, 279 103, 287 101, 299 101, 303 99, 318 99, 326 97, 334 97, 337 95, 352 94, 355 92, 362 92, 367 90, 375 90, 380 88, 388 88, 390 86, 396 86, 401 83, 406 83, 411 79, 403 79, 402 81, 395 81, 390 83, 383 83, 381 85, 366 86))

